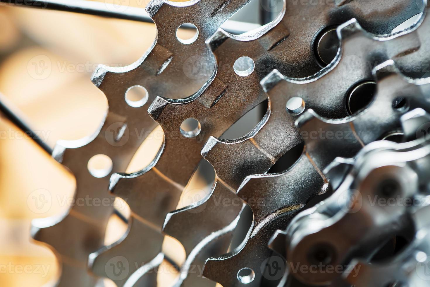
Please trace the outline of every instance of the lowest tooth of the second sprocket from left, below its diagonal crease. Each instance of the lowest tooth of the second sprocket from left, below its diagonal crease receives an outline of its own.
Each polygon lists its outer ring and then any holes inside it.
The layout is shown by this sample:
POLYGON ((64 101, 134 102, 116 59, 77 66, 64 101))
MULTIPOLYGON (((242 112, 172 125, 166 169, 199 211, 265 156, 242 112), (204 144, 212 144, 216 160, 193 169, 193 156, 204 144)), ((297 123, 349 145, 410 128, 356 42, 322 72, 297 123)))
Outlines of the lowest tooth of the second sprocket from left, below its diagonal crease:
POLYGON ((129 228, 119 241, 89 255, 89 269, 122 287, 138 268, 157 257, 162 242, 159 231, 130 217, 129 228))

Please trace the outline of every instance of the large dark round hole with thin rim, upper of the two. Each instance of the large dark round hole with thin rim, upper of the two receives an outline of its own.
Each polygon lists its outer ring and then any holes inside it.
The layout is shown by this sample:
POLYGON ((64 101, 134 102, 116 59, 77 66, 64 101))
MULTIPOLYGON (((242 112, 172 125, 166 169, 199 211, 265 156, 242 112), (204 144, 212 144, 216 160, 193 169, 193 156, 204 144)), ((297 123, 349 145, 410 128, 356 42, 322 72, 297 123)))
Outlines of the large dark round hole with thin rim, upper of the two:
POLYGON ((324 29, 316 37, 314 52, 323 67, 329 65, 338 53, 340 41, 336 28, 324 29))

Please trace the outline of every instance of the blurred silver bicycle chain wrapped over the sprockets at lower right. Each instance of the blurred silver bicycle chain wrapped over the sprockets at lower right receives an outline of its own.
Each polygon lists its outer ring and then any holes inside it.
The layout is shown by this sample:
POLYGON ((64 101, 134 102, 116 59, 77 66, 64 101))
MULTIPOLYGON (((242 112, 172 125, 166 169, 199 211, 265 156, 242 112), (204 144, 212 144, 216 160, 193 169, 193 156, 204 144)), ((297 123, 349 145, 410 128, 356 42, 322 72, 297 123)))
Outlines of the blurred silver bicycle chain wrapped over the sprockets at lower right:
MULTIPOLYGON (((420 127, 428 125, 429 120, 429 114, 421 108, 401 118, 409 138, 415 138, 420 127)), ((429 148, 425 138, 400 144, 373 142, 348 164, 345 160, 339 164, 337 160, 332 165, 332 174, 343 180, 335 193, 293 219, 287 231, 277 235, 287 241, 278 238, 276 244, 281 248, 282 243, 286 244, 291 266, 312 264, 312 254, 319 249, 329 249, 331 259, 319 272, 304 275, 300 272, 304 269, 298 268, 298 272, 291 273, 313 286, 329 283, 339 287, 390 286, 393 283, 427 286, 429 148), (341 169, 346 173, 339 174, 337 167, 340 165, 347 165, 349 171, 341 169), (373 198, 396 199, 399 204, 375 205, 373 198), (314 224, 312 230, 306 226, 310 221, 314 224), (348 228, 351 224, 354 228, 348 228), (403 250, 389 258, 371 261, 387 238, 405 228, 412 236, 403 250), (340 240, 343 243, 339 244, 340 240), (342 266, 343 273, 329 274, 327 265, 342 266)))

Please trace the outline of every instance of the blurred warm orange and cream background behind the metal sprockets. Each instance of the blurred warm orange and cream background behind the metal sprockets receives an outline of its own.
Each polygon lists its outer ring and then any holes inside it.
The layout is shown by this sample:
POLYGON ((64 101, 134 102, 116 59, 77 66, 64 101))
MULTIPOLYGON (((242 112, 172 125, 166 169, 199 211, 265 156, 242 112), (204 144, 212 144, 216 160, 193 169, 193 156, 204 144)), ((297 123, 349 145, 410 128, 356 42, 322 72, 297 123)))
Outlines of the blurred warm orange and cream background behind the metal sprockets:
MULTIPOLYGON (((141 2, 130 0, 129 4, 147 4, 141 2)), ((155 25, 150 23, 5 5, 0 5, 0 27, 0 93, 22 111, 51 147, 58 139, 92 134, 102 120, 107 101, 90 81, 95 67, 135 62, 156 35, 155 25), (40 67, 40 63, 47 66, 40 67)), ((187 37, 192 31, 181 33, 187 37)), ((74 177, 1 117, 0 131, 0 286, 50 286, 57 276, 57 263, 49 249, 32 243, 30 224, 34 218, 52 216, 68 207, 53 203, 49 211, 38 214, 31 208, 29 196, 43 188, 56 196, 73 197, 74 177)), ((156 152, 161 141, 145 141, 144 149, 156 152)), ((129 170, 145 167, 152 157, 151 152, 138 152, 129 170)), ((198 185, 198 179, 196 182, 198 185)), ((120 211, 127 214, 127 208, 120 211)), ((106 243, 119 239, 126 228, 112 216, 106 243)), ((181 245, 174 239, 166 241, 166 249, 181 263, 181 245)), ((169 266, 165 269, 171 272, 159 276, 159 282, 169 286, 178 274, 169 266)))

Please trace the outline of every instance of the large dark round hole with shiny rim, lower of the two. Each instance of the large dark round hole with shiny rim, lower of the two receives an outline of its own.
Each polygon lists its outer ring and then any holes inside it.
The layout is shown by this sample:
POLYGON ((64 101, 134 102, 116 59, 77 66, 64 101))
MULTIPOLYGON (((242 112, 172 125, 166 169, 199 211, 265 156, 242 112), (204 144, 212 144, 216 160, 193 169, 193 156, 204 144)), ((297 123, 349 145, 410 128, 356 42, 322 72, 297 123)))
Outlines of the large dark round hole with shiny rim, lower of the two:
POLYGON ((351 89, 347 97, 347 110, 350 114, 356 114, 366 108, 376 94, 376 83, 365 81, 358 83, 351 89))

